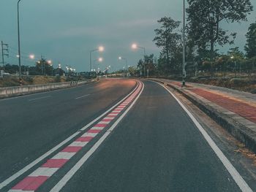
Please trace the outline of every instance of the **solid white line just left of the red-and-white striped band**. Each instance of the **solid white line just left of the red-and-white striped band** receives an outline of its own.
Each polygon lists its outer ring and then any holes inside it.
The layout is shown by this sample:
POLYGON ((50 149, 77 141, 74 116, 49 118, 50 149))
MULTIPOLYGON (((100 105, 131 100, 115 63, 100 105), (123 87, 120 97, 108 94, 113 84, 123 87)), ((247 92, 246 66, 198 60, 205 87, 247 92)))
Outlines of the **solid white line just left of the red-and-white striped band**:
MULTIPOLYGON (((138 82, 138 81, 136 81, 138 82)), ((84 126, 83 128, 80 129, 80 131, 84 131, 86 130, 86 128, 89 128, 89 126, 91 126, 93 123, 95 123, 97 120, 99 120, 100 118, 102 118, 103 116, 105 116, 106 114, 108 114, 108 112, 110 112, 111 110, 113 110, 116 106, 118 106, 118 104, 121 104, 121 102, 123 102, 125 99, 127 99, 130 95, 132 95, 132 93, 134 93, 136 91, 136 89, 138 88, 138 85, 136 85, 136 87, 127 95, 124 97, 124 99, 121 99, 121 101, 119 101, 117 104, 115 104, 113 107, 111 107, 109 110, 107 110, 106 112, 102 113, 102 115, 99 115, 98 118, 94 119, 91 121, 91 123, 87 124, 86 126, 84 126)), ((40 161, 42 161, 44 158, 47 158, 50 154, 52 154, 53 152, 55 152, 56 150, 58 150, 60 147, 62 147, 63 145, 65 145, 67 142, 69 142, 71 139, 73 139, 74 137, 76 137, 78 134, 80 134, 81 132, 77 131, 75 132, 75 134, 72 134, 72 136, 68 137, 67 139, 65 139, 63 142, 61 142, 59 145, 56 145, 55 147, 53 147, 51 150, 49 150, 48 152, 46 152, 44 155, 40 156, 39 158, 37 158, 36 160, 34 160, 33 162, 31 162, 31 164, 28 164, 27 166, 25 166, 23 169, 20 169, 20 171, 16 172, 15 174, 12 174, 12 176, 8 177, 6 180, 4 180, 2 183, 0 183, 0 190, 1 188, 4 188, 6 185, 10 184, 13 180, 17 179, 18 177, 20 177, 21 174, 29 171, 29 169, 31 169, 33 166, 35 166, 36 164, 38 164, 40 161)))

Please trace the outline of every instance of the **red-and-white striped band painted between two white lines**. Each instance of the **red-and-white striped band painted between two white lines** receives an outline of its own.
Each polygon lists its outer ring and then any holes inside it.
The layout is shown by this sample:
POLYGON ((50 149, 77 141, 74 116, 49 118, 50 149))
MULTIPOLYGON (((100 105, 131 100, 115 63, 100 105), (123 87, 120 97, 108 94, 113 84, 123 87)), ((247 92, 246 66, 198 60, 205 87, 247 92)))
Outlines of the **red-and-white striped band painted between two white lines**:
POLYGON ((140 93, 143 84, 139 82, 138 88, 132 95, 125 99, 121 104, 118 105, 114 110, 108 113, 105 118, 99 120, 99 122, 91 127, 85 134, 78 137, 74 142, 65 147, 61 152, 48 159, 45 164, 42 164, 38 169, 29 174, 21 180, 17 185, 12 187, 10 192, 24 192, 24 191, 36 191, 39 186, 45 183, 49 177, 57 172, 64 164, 69 161, 78 151, 85 147, 91 139, 99 134, 109 123, 113 123, 118 115, 129 105, 135 97, 140 93))

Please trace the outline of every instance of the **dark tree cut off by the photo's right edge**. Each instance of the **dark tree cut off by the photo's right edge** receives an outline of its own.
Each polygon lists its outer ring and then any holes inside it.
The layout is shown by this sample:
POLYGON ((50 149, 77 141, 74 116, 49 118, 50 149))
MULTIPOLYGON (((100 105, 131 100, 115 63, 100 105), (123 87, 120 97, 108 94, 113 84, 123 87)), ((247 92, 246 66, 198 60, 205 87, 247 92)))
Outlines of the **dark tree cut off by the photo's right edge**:
POLYGON ((244 50, 248 58, 256 56, 256 23, 252 23, 248 28, 244 50))

